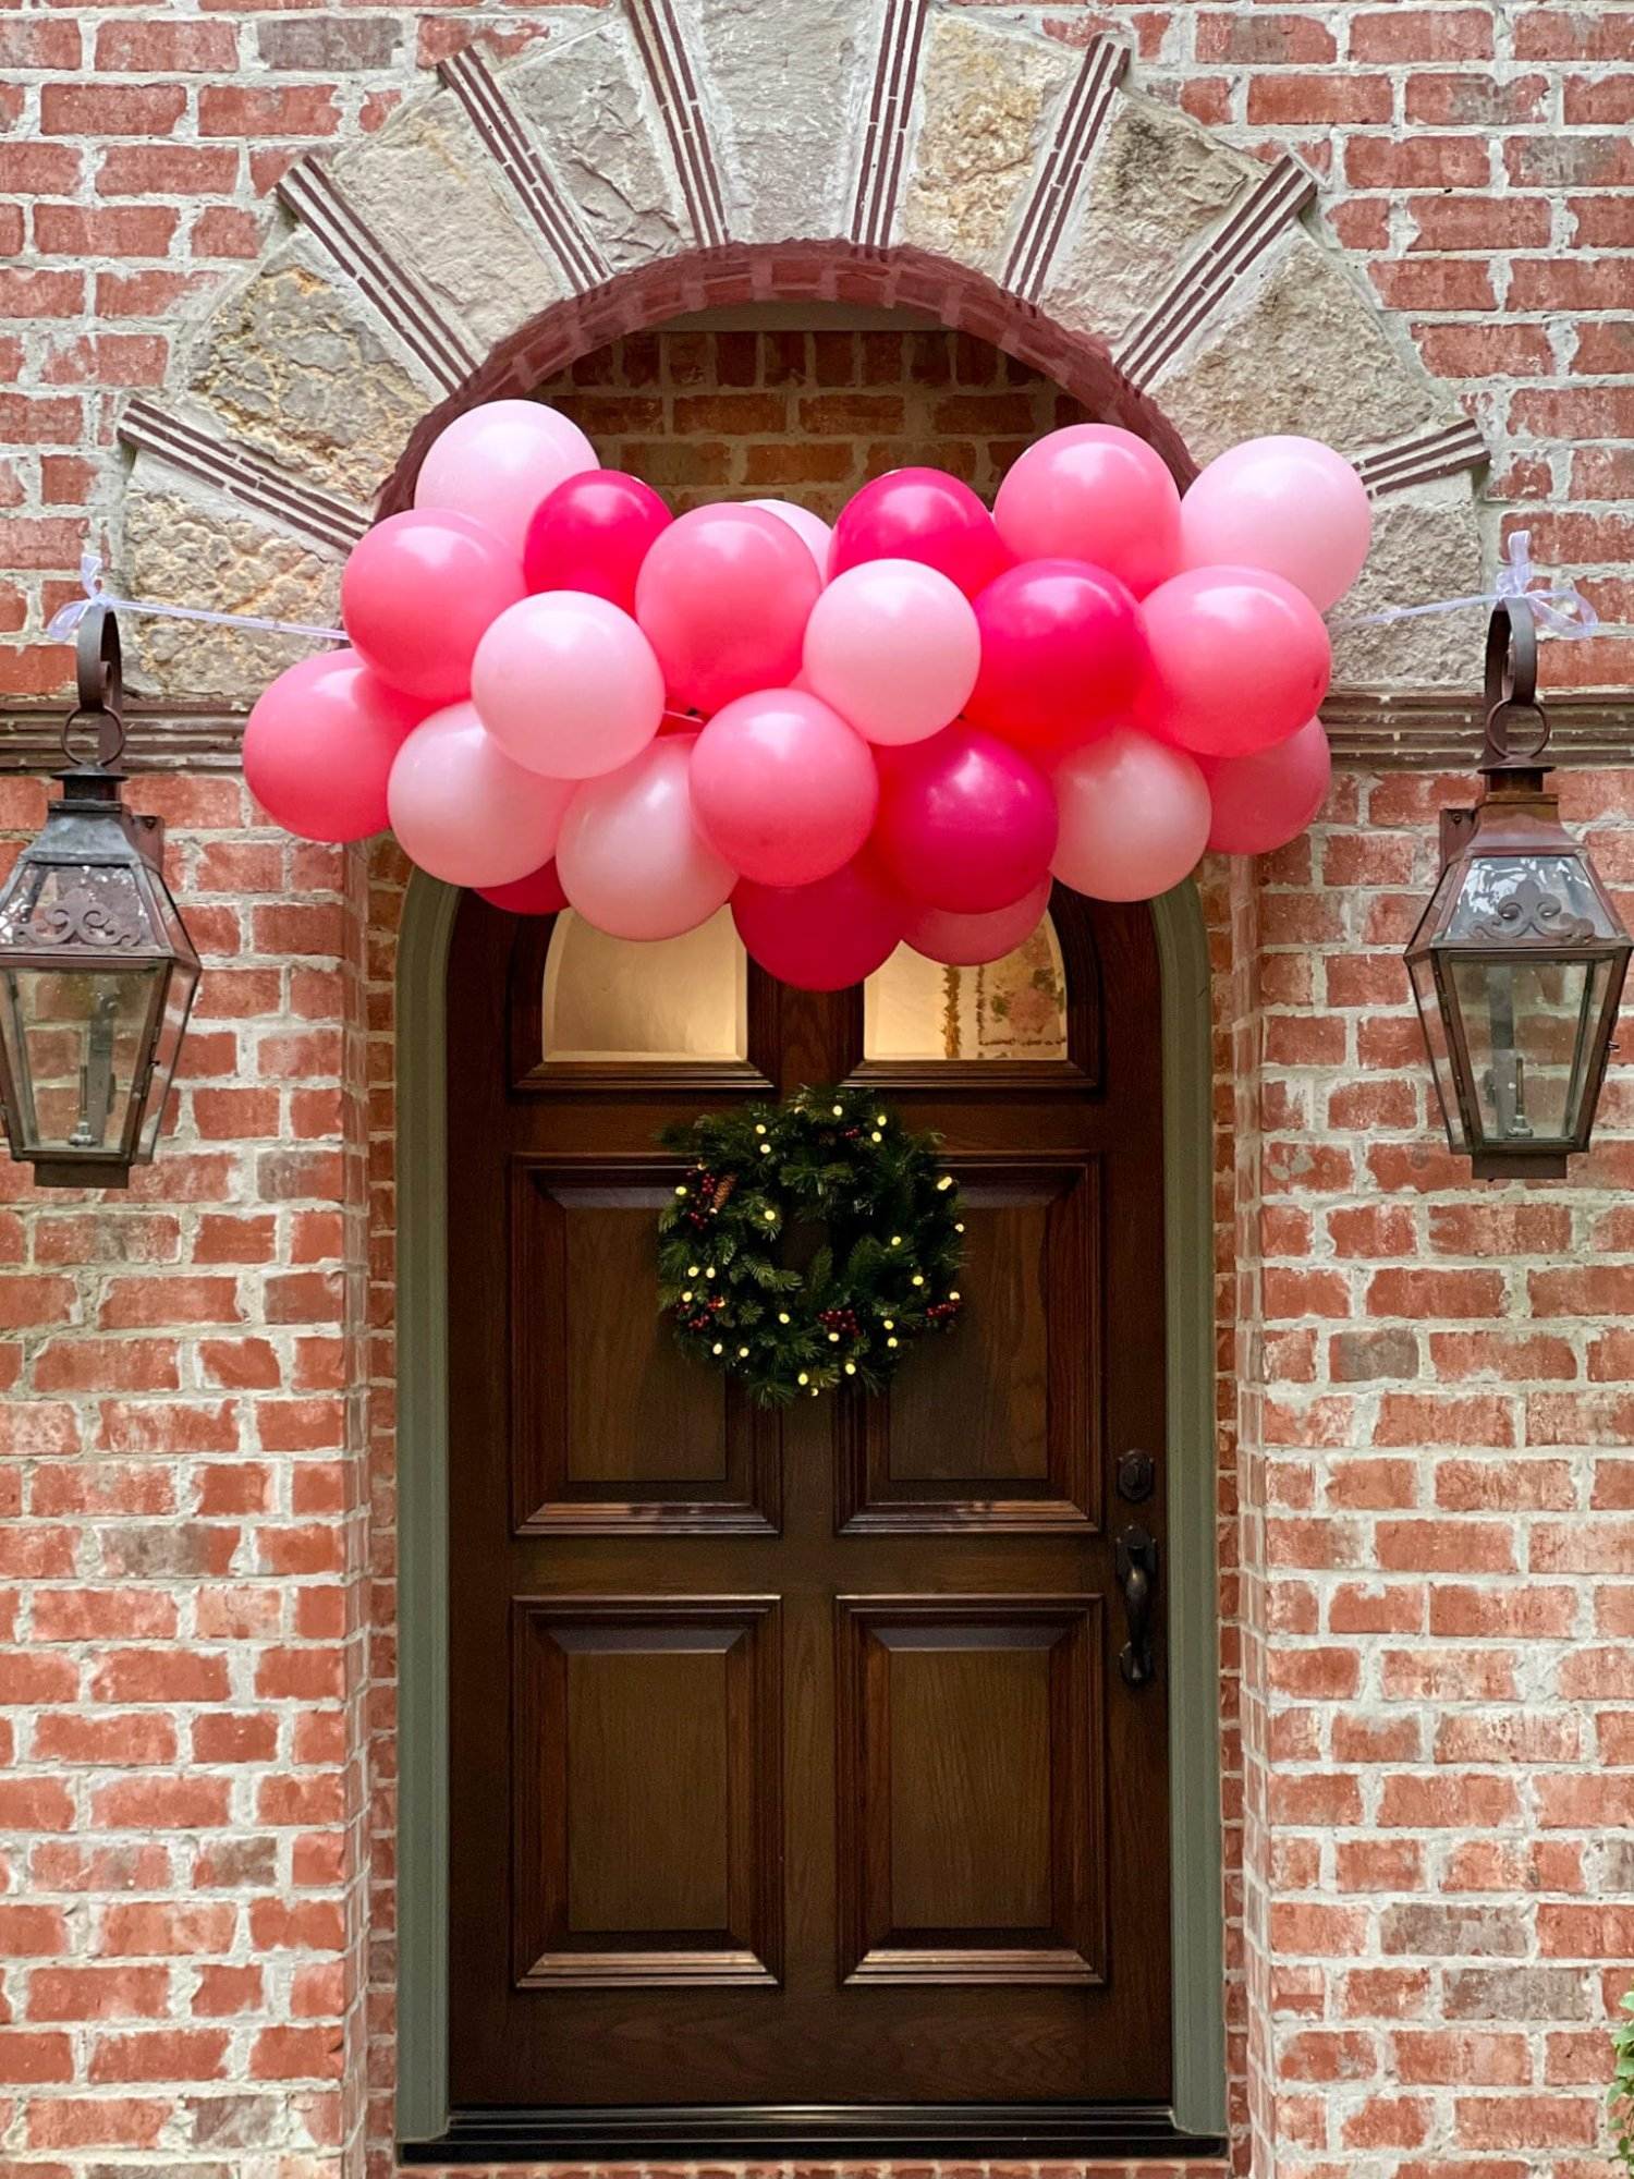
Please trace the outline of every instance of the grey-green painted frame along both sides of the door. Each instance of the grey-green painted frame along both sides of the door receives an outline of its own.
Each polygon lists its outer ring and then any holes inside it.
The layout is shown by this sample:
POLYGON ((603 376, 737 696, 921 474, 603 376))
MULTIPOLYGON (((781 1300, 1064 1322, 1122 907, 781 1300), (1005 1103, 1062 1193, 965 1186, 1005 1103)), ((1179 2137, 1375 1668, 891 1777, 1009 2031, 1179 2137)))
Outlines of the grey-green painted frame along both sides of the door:
MULTIPOLYGON (((460 889, 414 872, 397 944, 397 2133, 449 2125, 447 1033, 460 889)), ((1150 904, 1163 1013, 1170 1944, 1176 2129, 1222 2135, 1224 1894, 1209 948, 1187 880, 1150 904)), ((972 2131, 983 2125, 972 2111, 972 2131)), ((961 2144, 948 2142, 948 2155, 961 2144)), ((1057 2148, 1057 2153, 1070 2153, 1057 2148)))

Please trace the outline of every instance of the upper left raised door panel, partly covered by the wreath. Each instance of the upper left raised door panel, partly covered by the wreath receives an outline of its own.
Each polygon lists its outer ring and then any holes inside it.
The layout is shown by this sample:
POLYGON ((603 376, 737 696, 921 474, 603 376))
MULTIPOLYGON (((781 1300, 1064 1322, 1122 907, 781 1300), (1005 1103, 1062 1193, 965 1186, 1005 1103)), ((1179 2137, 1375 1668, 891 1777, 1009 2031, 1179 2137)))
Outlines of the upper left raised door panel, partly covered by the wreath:
MULTIPOLYGON (((521 1532, 778 1525, 776 1416, 695 1368, 651 1305, 678 1159, 512 1174, 512 1508, 521 1532)), ((699 1266, 702 1268, 702 1266, 699 1266)))

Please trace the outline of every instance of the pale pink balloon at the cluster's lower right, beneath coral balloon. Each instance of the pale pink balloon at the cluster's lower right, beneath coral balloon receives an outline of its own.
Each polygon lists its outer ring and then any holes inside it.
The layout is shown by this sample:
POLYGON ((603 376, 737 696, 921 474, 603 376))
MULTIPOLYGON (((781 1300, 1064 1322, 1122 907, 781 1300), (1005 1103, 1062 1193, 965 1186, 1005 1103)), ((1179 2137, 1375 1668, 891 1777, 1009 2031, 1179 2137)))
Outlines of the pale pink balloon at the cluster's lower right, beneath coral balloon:
POLYGON ((1153 900, 1190 876, 1209 839, 1209 787, 1183 752, 1133 726, 1054 767, 1061 837, 1050 869, 1092 900, 1153 900))

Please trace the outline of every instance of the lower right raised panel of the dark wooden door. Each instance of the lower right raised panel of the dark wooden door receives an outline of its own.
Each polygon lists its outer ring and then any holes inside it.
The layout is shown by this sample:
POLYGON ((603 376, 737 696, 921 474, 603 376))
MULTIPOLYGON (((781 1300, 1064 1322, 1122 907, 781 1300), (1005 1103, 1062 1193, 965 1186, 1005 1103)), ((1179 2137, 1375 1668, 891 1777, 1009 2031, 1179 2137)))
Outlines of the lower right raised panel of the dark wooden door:
POLYGON ((1100 1597, 841 1597, 850 1983, 1105 1981, 1100 1597))

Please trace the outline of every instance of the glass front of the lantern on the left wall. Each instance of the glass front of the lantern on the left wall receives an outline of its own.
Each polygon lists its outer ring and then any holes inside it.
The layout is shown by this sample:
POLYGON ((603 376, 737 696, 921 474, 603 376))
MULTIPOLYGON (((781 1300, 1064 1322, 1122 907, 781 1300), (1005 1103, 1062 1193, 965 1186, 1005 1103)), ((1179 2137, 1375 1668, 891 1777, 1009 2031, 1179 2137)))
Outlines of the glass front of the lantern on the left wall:
POLYGON ((0 970, 13 1155, 126 1153, 131 1098, 163 963, 0 970))

